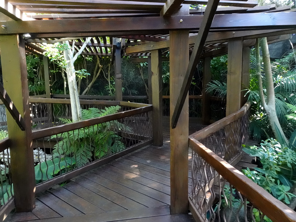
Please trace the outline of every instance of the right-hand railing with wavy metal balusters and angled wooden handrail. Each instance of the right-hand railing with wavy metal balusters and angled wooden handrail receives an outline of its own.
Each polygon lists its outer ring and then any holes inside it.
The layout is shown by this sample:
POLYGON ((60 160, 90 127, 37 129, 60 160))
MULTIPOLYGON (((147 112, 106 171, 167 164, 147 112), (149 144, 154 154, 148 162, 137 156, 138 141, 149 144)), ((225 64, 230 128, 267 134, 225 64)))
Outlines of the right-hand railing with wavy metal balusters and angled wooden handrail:
POLYGON ((241 144, 247 140, 249 106, 189 136, 189 209, 196 221, 296 221, 294 210, 232 166, 240 159, 241 144))

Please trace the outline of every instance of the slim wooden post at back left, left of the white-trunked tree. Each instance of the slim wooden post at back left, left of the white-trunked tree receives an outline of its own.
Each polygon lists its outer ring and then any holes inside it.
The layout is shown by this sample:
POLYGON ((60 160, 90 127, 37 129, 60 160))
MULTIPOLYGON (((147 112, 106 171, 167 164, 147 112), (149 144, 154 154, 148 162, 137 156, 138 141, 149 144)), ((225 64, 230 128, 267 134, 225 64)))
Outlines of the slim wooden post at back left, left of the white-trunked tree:
MULTIPOLYGON (((45 82, 45 95, 46 98, 51 98, 51 84, 50 84, 50 67, 49 60, 46 56, 43 56, 43 68, 44 68, 44 82, 45 82)), ((48 103, 47 105, 47 115, 49 118, 49 123, 54 121, 54 116, 52 113, 53 107, 52 104, 48 103)))

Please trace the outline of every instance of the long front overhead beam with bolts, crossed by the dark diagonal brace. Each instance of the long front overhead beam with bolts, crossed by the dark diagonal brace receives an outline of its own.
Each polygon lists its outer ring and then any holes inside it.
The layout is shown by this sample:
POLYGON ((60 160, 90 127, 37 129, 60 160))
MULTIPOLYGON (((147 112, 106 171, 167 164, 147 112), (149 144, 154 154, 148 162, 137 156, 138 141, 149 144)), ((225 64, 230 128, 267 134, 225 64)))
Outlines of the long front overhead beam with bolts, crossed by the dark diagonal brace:
MULTIPOLYGON (((6 28, 0 34, 18 33, 122 33, 136 31, 149 34, 168 30, 199 30, 204 15, 184 15, 171 17, 106 18, 73 20, 36 20, 0 22, 6 28), (180 22, 182 20, 183 22, 180 22)), ((214 30, 223 29, 283 29, 296 28, 296 12, 244 13, 215 15, 210 26, 214 30), (244 19, 242 19, 244 18, 244 19)))

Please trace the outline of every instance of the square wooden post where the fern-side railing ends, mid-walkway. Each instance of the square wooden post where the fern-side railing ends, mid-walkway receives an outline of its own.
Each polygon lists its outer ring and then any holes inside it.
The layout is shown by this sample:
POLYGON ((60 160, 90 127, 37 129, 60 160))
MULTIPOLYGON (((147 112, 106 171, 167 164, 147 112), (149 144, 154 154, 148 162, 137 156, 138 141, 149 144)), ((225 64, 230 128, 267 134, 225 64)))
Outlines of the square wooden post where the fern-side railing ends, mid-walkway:
POLYGON ((163 145, 163 85, 162 85, 161 51, 151 51, 151 86, 152 86, 152 127, 153 145, 163 145))

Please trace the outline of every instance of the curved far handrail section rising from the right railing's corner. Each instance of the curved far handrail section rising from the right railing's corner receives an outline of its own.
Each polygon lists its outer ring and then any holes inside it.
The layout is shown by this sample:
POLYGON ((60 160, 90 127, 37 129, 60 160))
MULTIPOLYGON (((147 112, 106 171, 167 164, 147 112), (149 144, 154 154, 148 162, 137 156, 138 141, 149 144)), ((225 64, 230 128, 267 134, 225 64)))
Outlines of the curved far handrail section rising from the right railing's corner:
POLYGON ((210 136, 211 134, 217 132, 218 130, 222 129, 223 127, 229 125, 230 123, 233 123, 235 120, 238 120, 241 118, 250 108, 250 102, 247 102, 244 104, 244 106, 238 110, 237 112, 234 112, 230 114, 229 116, 224 117, 221 120, 216 121, 215 123, 201 129, 200 131, 197 131, 196 133, 191 134, 189 137, 194 137, 196 140, 202 140, 206 138, 207 136, 210 136))

